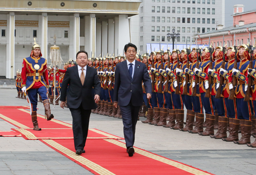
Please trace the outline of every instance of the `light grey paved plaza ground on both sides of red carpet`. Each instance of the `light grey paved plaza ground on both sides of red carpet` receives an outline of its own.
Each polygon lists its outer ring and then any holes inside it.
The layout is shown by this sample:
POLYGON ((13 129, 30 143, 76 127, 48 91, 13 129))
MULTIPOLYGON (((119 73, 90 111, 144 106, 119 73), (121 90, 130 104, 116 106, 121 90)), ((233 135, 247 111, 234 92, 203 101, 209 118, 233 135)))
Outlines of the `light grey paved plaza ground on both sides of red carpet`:
MULTIPOLYGON (((0 106, 29 106, 26 100, 17 99, 15 96, 15 89, 0 89, 0 106)), ((51 105, 51 110, 56 120, 72 124, 69 109, 61 109, 60 106, 53 108, 51 105)), ((44 115, 43 103, 38 103, 38 114, 44 115)), ((145 118, 140 117, 140 120, 145 118)), ((40 127, 40 123, 38 124, 40 127)), ((122 127, 122 119, 91 114, 89 128, 124 137, 122 127)), ((0 119, 1 131, 10 131, 11 128, 17 127, 0 119)), ((254 140, 255 138, 251 137, 251 141, 254 140)), ((215 175, 256 175, 256 148, 209 136, 199 136, 138 121, 134 146, 215 175)), ((0 175, 89 174, 92 173, 41 141, 25 140, 22 137, 0 137, 0 175)), ((172 172, 169 174, 172 175, 172 172)))

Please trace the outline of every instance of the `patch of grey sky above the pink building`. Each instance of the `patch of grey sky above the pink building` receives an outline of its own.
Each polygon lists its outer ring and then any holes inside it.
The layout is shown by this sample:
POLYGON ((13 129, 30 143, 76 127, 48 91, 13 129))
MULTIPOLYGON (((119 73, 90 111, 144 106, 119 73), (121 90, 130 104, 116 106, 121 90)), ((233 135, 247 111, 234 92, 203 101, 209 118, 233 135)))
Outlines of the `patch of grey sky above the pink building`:
POLYGON ((233 26, 233 6, 236 4, 243 4, 244 11, 256 9, 256 0, 225 0, 225 27, 233 26))

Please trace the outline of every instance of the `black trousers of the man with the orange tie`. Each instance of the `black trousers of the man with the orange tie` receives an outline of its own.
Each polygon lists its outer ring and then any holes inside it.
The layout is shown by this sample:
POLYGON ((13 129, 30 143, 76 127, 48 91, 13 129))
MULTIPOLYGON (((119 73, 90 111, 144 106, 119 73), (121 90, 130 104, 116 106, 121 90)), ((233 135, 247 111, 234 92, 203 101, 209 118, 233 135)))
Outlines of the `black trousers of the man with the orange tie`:
POLYGON ((91 110, 84 110, 82 104, 77 109, 70 108, 73 118, 73 135, 75 149, 84 149, 88 135, 91 110))

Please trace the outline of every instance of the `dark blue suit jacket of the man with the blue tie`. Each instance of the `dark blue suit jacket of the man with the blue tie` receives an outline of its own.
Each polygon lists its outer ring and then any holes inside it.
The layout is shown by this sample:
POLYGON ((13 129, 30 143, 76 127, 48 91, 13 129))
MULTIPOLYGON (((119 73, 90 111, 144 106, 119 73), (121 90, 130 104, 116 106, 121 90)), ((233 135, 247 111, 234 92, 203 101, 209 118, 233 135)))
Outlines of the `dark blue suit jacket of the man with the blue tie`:
POLYGON ((148 69, 144 63, 135 60, 134 76, 131 80, 127 60, 116 64, 114 84, 114 100, 119 106, 127 106, 130 101, 133 106, 143 105, 143 89, 144 83, 146 93, 151 93, 151 78, 148 69))

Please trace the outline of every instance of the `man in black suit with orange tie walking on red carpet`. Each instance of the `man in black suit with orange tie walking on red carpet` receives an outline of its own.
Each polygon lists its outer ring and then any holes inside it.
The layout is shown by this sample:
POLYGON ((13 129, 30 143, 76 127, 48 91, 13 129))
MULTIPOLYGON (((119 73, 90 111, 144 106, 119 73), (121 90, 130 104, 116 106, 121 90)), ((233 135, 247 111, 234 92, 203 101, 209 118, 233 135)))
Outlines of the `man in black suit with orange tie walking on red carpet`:
POLYGON ((67 69, 61 86, 61 108, 70 109, 73 118, 73 135, 76 154, 84 153, 88 135, 91 109, 96 109, 99 102, 100 83, 96 69, 87 66, 88 54, 79 51, 76 54, 77 65, 67 69), (67 91, 68 86, 68 91, 67 91), (94 88, 95 96, 92 93, 94 88))

